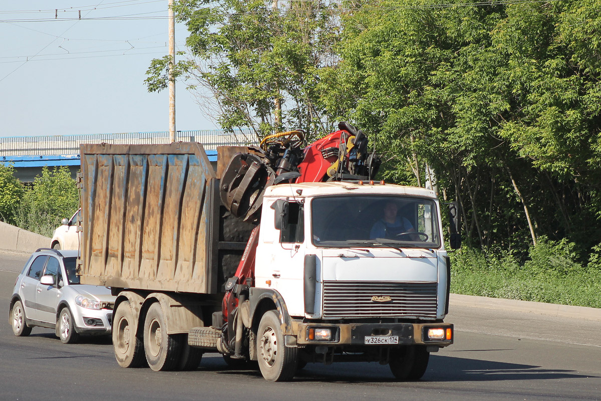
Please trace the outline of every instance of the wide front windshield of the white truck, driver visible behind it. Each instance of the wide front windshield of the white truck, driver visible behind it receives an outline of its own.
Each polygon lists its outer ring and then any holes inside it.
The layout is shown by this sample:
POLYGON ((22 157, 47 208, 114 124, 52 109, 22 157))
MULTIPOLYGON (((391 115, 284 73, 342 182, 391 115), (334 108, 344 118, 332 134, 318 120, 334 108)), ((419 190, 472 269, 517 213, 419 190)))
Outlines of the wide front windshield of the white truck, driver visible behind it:
POLYGON ((345 195, 311 202, 313 243, 348 248, 439 248, 438 212, 428 198, 345 195))

